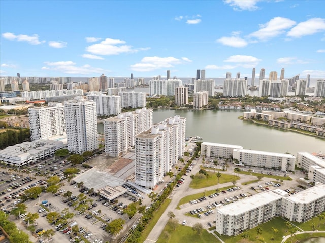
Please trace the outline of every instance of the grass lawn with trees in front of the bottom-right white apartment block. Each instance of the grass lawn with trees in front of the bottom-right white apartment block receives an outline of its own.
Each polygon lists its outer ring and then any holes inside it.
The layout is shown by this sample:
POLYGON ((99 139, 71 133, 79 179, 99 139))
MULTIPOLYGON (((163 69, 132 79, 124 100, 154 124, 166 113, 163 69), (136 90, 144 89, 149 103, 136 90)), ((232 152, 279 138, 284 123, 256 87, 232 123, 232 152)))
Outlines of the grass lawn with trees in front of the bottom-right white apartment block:
MULTIPOLYGON (((269 222, 260 224, 258 227, 262 229, 262 234, 257 235, 257 230, 255 228, 252 228, 250 230, 247 230, 246 232, 249 235, 249 241, 250 242, 276 242, 279 243, 282 240, 283 235, 288 235, 287 227, 285 224, 285 220, 277 217, 272 219, 269 222), (273 231, 273 228, 278 230, 277 233, 273 231), (274 239, 272 239, 274 237, 274 239), (261 241, 260 239, 263 238, 264 241, 261 241)), ((215 232, 216 233, 216 232, 215 232)), ((218 235, 218 233, 216 233, 218 235)), ((243 239, 243 235, 245 234, 239 234, 237 236, 225 236, 225 235, 218 235, 225 243, 237 243, 241 239, 243 239)))

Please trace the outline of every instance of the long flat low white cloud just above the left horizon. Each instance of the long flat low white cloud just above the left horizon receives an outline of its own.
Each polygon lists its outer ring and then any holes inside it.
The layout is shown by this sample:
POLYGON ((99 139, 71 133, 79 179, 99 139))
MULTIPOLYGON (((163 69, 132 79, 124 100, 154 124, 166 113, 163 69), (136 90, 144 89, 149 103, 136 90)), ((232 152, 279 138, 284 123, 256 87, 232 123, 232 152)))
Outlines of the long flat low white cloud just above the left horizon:
POLYGON ((72 61, 60 61, 60 62, 45 62, 46 66, 42 67, 42 70, 54 70, 56 72, 63 72, 68 74, 92 74, 103 73, 102 68, 91 67, 88 64, 83 66, 76 66, 72 61))

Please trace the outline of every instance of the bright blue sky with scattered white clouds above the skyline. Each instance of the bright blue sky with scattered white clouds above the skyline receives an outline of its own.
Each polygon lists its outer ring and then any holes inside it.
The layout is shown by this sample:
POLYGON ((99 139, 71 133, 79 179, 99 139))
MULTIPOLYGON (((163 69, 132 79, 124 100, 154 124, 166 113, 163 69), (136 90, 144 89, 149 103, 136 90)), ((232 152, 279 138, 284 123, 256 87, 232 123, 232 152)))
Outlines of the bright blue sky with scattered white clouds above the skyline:
POLYGON ((325 1, 0 1, 2 76, 325 78, 325 1))

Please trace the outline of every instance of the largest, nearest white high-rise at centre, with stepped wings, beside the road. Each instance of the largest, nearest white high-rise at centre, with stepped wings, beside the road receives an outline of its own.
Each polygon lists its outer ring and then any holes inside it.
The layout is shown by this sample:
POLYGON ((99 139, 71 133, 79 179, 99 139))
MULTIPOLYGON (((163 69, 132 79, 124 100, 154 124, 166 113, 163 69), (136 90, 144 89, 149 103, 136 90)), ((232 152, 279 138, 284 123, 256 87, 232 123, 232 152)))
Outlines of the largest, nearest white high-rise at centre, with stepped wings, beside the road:
POLYGON ((186 118, 174 116, 135 136, 135 183, 154 188, 184 153, 186 118))

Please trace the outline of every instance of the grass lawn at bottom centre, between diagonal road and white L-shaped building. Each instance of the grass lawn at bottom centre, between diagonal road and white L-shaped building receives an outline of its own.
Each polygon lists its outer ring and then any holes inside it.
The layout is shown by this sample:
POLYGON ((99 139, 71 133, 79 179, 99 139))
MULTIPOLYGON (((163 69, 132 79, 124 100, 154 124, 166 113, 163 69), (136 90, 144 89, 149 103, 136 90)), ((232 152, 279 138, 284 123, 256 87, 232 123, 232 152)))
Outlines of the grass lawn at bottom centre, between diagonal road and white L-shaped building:
MULTIPOLYGON (((143 242, 143 241, 141 241, 143 242)), ((211 243, 218 242, 218 240, 209 234, 208 231, 203 230, 201 235, 198 235, 195 231, 192 230, 192 227, 177 225, 175 230, 166 225, 164 231, 159 236, 157 243, 182 243, 182 242, 191 242, 191 243, 211 243)))

